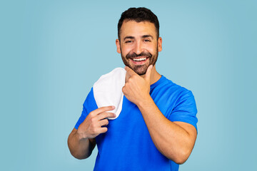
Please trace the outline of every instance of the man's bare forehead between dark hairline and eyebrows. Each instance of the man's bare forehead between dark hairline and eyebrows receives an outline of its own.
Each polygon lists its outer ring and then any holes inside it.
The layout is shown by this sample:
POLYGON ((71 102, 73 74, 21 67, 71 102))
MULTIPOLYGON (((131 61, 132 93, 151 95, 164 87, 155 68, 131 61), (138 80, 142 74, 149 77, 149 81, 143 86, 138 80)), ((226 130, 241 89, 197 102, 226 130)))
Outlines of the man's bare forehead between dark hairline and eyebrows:
POLYGON ((151 35, 156 36, 156 27, 149 21, 124 21, 121 26, 121 38, 126 36, 143 36, 151 35))

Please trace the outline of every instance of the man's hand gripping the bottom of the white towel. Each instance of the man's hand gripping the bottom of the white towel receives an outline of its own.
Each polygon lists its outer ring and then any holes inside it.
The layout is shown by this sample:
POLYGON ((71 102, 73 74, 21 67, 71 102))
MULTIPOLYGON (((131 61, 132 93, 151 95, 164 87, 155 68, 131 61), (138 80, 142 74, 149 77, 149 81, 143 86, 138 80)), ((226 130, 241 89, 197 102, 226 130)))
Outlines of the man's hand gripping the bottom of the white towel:
POLYGON ((106 111, 114 110, 114 106, 101 107, 93 110, 89 115, 86 116, 81 125, 77 130, 80 139, 95 138, 101 133, 106 133, 107 128, 102 127, 109 124, 108 119, 115 117, 114 113, 107 113, 106 111))

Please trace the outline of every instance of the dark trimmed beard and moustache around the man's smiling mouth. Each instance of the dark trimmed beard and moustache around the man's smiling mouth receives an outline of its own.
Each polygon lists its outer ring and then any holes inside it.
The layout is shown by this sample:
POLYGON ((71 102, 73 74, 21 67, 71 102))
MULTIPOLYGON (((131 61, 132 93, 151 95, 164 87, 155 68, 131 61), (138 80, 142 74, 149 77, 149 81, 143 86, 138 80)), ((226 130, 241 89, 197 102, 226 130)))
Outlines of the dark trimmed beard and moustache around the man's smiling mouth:
POLYGON ((126 56, 124 56, 121 51, 121 58, 122 58, 122 61, 124 62, 125 66, 128 66, 129 68, 131 68, 139 76, 142 76, 142 75, 146 74, 148 66, 151 66, 151 65, 154 66, 156 64, 156 61, 158 59, 158 47, 156 47, 156 53, 154 53, 154 54, 151 54, 148 51, 143 51, 140 54, 136 54, 133 52, 133 53, 128 53, 126 56), (148 64, 145 63, 143 65, 133 65, 133 64, 129 63, 129 60, 131 58, 140 57, 140 56, 144 56, 144 57, 148 58, 148 61, 149 61, 148 64))

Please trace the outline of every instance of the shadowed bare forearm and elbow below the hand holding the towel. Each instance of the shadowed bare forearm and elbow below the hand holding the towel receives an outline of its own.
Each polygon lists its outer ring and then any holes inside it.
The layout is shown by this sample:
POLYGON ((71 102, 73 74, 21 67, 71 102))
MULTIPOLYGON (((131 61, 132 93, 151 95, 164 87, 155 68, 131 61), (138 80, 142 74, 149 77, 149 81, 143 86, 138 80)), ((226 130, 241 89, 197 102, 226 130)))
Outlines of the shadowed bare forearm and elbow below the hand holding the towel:
POLYGON ((79 134, 76 130, 73 130, 68 138, 68 146, 71 155, 77 159, 85 159, 89 157, 94 150, 94 142, 90 142, 89 138, 79 138, 79 134))

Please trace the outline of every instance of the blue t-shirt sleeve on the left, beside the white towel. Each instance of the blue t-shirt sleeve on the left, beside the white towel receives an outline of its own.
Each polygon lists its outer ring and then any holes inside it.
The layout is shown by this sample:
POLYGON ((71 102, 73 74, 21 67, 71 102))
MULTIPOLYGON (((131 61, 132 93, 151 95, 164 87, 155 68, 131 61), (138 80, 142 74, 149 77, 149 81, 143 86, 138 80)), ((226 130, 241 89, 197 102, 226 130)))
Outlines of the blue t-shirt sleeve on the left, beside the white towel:
POLYGON ((89 115, 91 111, 96 110, 97 108, 98 107, 96 105, 96 100, 94 99, 94 91, 93 88, 91 88, 89 94, 86 97, 86 100, 84 101, 81 116, 74 128, 76 128, 77 130, 79 128, 79 125, 81 125, 81 123, 83 123, 86 119, 86 116, 89 115))

